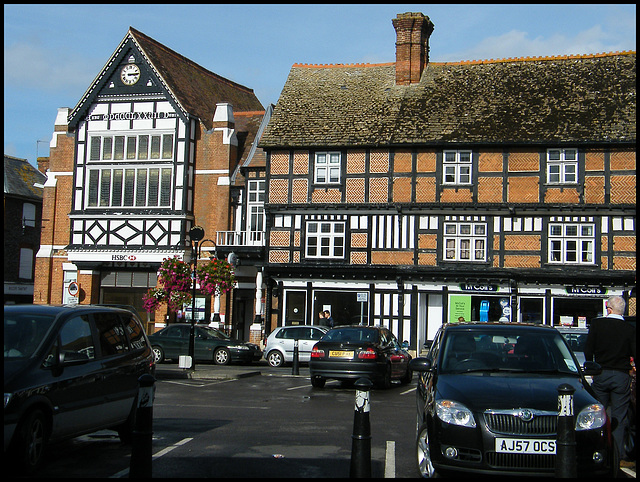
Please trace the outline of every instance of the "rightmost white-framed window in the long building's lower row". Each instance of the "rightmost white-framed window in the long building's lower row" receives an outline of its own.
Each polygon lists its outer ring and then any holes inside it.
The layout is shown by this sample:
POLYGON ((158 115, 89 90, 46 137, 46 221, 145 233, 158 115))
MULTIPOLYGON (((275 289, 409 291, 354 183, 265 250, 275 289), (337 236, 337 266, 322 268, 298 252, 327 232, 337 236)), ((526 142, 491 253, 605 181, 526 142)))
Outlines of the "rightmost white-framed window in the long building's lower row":
POLYGON ((548 242, 551 264, 595 264, 593 223, 550 223, 548 242))

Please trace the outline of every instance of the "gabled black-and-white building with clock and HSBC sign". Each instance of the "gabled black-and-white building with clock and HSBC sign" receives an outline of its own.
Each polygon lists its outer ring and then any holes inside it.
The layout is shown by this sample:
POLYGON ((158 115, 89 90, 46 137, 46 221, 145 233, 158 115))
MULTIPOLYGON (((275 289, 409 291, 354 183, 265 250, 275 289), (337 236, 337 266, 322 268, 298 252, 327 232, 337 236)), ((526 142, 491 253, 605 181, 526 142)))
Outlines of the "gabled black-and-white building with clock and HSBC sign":
MULTIPOLYGON (((263 116, 252 89, 130 28, 78 104, 58 110, 34 302, 128 304, 146 317, 142 295, 164 258, 191 259, 194 225, 201 258, 217 255, 231 174, 263 116)), ((198 296, 196 307, 200 321, 229 320, 230 300, 198 296)))

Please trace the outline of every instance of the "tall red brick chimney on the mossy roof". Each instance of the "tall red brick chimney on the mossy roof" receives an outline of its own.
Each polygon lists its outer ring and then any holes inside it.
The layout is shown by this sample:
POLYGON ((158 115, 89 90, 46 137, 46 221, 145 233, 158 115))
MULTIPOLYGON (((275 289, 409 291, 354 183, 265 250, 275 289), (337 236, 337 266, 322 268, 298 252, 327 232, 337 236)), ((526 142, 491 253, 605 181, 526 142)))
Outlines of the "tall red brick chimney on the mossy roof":
POLYGON ((392 20, 396 29, 396 84, 420 82, 429 63, 429 37, 433 22, 421 13, 399 13, 392 20))

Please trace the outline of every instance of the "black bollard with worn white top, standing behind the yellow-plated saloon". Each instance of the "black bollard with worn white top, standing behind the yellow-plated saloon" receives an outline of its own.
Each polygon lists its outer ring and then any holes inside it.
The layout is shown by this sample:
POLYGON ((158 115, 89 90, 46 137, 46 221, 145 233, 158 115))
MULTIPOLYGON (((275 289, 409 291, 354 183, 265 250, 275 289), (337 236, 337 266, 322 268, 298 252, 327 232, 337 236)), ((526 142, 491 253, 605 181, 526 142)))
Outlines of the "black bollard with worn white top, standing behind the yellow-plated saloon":
POLYGON ((369 423, 369 390, 373 383, 359 378, 355 383, 356 405, 351 436, 351 470, 349 477, 371 478, 371 425, 369 423))

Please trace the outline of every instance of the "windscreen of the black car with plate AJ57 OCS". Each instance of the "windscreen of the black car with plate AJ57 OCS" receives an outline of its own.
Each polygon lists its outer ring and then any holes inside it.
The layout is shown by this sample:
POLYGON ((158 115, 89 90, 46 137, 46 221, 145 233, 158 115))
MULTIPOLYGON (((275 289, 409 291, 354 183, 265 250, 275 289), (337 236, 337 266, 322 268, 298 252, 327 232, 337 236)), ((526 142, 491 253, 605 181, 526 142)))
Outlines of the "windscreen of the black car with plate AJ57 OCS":
POLYGON ((441 373, 577 373, 562 336, 553 331, 495 329, 450 331, 440 350, 441 373))

